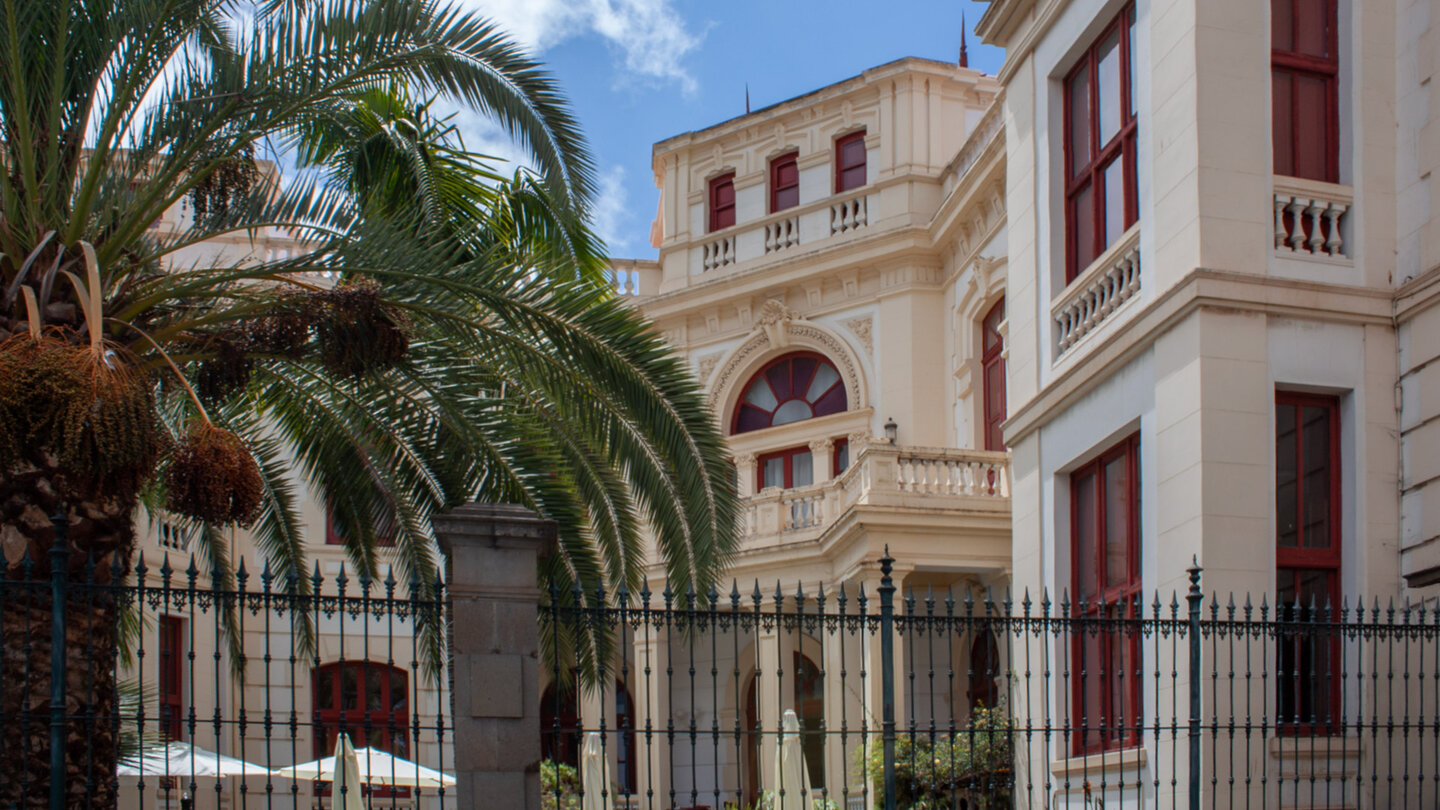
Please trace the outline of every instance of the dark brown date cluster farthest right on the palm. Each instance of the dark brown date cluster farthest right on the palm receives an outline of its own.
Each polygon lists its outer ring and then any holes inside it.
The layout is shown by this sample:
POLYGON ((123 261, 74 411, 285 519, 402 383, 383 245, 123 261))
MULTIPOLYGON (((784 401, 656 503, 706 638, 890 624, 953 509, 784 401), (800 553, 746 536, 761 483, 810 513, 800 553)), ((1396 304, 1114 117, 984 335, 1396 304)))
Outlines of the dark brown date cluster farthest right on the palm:
POLYGON ((324 304, 315 331, 320 360, 341 376, 393 368, 410 352, 410 323, 380 298, 380 285, 357 280, 317 293, 324 304))

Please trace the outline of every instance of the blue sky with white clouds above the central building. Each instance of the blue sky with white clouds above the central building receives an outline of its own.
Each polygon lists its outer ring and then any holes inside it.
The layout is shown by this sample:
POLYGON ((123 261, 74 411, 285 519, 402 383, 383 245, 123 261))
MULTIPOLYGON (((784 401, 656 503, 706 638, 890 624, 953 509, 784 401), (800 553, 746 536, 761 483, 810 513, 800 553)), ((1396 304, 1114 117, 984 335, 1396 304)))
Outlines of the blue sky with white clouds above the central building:
MULTIPOLYGON (((596 159, 596 228, 616 257, 654 257, 658 192, 651 146, 841 81, 901 56, 955 59, 972 0, 698 1, 461 0, 490 14, 556 74, 596 159)), ((1002 52, 969 35, 971 66, 1002 52)), ((500 134, 461 114, 467 144, 513 157, 500 134)))

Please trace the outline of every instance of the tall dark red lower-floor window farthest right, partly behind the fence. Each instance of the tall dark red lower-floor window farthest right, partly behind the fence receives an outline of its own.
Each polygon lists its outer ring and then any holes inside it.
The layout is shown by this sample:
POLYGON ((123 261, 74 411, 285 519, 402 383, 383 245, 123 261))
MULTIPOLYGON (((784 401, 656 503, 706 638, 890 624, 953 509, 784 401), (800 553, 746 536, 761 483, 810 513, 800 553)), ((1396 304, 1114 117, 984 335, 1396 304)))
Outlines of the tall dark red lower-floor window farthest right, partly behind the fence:
POLYGON ((1341 643, 1331 624, 1342 601, 1339 398, 1277 391, 1274 404, 1277 725, 1284 734, 1335 734, 1342 724, 1341 643), (1323 447, 1310 444, 1316 440, 1323 447), (1325 497, 1318 510, 1310 509, 1316 489, 1325 497), (1323 525, 1312 533, 1318 520, 1323 525), (1316 538, 1323 545, 1308 542, 1316 538))

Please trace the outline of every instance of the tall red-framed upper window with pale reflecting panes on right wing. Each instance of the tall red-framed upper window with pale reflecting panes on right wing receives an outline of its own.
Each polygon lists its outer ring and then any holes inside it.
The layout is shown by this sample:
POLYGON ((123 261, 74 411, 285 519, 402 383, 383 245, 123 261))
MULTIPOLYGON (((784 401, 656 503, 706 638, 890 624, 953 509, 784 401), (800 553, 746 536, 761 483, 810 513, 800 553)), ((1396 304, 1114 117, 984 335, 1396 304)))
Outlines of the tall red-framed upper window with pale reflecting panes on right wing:
POLYGON ((1133 50, 1126 6, 1066 78, 1066 282, 1139 219, 1133 50))

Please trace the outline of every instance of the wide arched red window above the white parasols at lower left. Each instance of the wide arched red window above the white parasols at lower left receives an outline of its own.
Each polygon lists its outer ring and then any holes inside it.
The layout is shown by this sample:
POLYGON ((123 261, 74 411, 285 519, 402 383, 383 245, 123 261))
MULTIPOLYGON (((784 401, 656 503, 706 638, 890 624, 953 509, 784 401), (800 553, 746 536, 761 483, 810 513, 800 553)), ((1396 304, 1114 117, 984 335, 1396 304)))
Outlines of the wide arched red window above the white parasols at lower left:
MULTIPOLYGON (((405 760, 413 760, 410 754, 410 680, 403 669, 397 669, 380 662, 337 662, 315 667, 311 672, 311 708, 314 709, 314 752, 321 760, 336 752, 336 738, 341 729, 350 735, 350 742, 356 749, 379 748, 405 760), (346 672, 354 673, 354 708, 346 705, 346 672), (379 708, 370 708, 370 683, 379 687, 379 708), (328 689, 323 687, 328 682, 328 689), (399 692, 396 692, 399 687, 399 692), (321 698, 330 696, 333 705, 321 705, 321 698), (400 700, 396 700, 396 696, 400 700), (389 698, 386 698, 389 696, 389 698), (399 745, 396 745, 399 742, 399 745)), ((318 788, 323 796, 330 794, 328 783, 318 788)), ((369 790, 373 797, 408 797, 408 787, 373 787, 369 790)))

